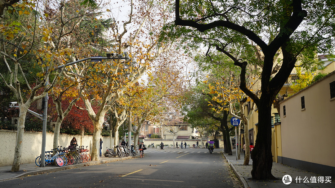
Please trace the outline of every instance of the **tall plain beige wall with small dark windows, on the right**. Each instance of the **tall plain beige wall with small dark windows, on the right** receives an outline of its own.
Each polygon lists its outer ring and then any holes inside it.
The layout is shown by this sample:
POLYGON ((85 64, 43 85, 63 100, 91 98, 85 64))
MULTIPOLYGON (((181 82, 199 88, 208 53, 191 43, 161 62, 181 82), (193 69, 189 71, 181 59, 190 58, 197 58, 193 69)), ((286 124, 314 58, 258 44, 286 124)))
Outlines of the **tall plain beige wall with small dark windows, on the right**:
POLYGON ((282 157, 335 167, 335 98, 330 99, 329 87, 332 81, 335 72, 280 104, 282 157), (305 110, 301 109, 302 96, 305 110))

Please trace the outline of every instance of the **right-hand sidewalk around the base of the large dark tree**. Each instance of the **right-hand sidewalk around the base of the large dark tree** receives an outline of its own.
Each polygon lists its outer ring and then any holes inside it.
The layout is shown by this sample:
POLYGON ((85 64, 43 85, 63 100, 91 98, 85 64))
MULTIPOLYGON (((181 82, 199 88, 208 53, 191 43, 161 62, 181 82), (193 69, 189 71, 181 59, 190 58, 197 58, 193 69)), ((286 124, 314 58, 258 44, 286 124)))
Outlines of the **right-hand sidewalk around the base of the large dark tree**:
POLYGON ((232 155, 228 156, 223 151, 224 157, 227 159, 230 167, 235 172, 237 177, 240 179, 244 188, 335 188, 335 177, 331 177, 331 183, 304 183, 304 181, 311 182, 311 178, 313 182, 318 182, 319 177, 324 177, 319 174, 315 174, 312 172, 307 172, 302 169, 298 169, 295 167, 290 167, 283 165, 281 163, 273 163, 272 164, 272 175, 279 180, 252 180, 251 170, 252 170, 252 159, 250 159, 249 165, 244 166, 244 154, 241 152, 241 160, 236 160, 236 150, 232 150, 232 155), (285 175, 290 175, 292 177, 292 182, 289 185, 285 185, 282 181, 282 178, 285 175), (301 178, 299 183, 299 177, 301 178), (306 178, 307 177, 307 180, 306 178), (314 179, 314 177, 316 179, 314 179), (297 179, 297 180, 296 180, 297 179), (305 179, 305 180, 304 180, 305 179))

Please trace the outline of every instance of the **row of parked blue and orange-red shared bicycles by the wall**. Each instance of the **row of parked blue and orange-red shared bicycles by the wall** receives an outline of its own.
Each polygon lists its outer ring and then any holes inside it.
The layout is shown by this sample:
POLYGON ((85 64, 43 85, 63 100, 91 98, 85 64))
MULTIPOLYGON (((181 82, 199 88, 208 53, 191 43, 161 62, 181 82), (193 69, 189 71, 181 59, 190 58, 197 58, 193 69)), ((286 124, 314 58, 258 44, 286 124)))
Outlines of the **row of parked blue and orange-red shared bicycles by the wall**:
MULTIPOLYGON (((91 161, 91 156, 87 153, 89 150, 84 148, 84 146, 72 145, 67 148, 57 147, 51 151, 45 152, 45 165, 52 164, 56 161, 58 166, 72 165, 78 163, 85 163, 91 161), (55 155, 53 155, 55 151, 55 155)), ((35 159, 35 164, 37 166, 41 165, 41 156, 35 159)))

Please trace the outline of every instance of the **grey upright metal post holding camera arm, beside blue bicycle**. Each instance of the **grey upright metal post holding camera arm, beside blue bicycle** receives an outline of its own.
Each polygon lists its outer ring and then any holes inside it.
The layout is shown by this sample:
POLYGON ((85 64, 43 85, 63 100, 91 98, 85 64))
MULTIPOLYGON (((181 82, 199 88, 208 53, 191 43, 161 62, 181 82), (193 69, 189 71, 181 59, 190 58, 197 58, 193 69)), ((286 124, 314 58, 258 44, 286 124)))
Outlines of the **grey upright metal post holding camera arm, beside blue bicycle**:
MULTIPOLYGON (((48 72, 48 67, 47 67, 48 72)), ((49 77, 45 81, 45 86, 49 85, 49 77)), ((44 110, 43 110, 43 127, 42 127, 42 150, 41 150, 41 165, 40 167, 45 167, 45 143, 47 137, 47 115, 48 115, 48 92, 44 97, 44 110)))

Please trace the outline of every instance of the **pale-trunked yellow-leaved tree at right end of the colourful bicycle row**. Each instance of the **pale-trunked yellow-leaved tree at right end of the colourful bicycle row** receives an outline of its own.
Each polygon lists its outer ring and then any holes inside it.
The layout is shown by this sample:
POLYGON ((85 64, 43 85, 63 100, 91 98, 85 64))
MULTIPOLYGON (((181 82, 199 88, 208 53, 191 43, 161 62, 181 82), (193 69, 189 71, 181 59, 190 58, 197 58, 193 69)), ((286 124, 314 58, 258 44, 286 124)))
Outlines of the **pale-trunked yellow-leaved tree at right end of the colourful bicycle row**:
MULTIPOLYGON (((112 38, 109 46, 105 49, 116 54, 128 52, 129 60, 114 59, 99 63, 91 62, 89 64, 76 64, 68 68, 69 79, 80 81, 78 88, 85 85, 82 92, 82 99, 85 104, 83 109, 87 111, 94 126, 92 160, 99 160, 99 139, 105 114, 140 79, 150 63, 174 45, 173 41, 170 43, 159 41, 159 32, 164 20, 170 19, 172 16, 167 14, 164 3, 167 2, 147 4, 141 0, 134 3, 130 1, 129 19, 123 22, 121 27, 119 21, 113 17, 114 15, 111 15, 114 20, 114 23, 111 24, 110 36, 112 38), (155 14, 155 11, 161 11, 164 14, 155 14), (155 16, 159 16, 161 22, 158 22, 155 16), (130 29, 131 24, 132 28, 130 29), (129 30, 133 32, 128 37, 126 34, 129 33, 129 30), (150 35, 146 34, 148 32, 150 35), (83 81, 79 79, 81 76, 84 77, 83 81), (92 102, 99 104, 99 109, 96 112, 92 108, 92 102)), ((95 45, 98 46, 98 43, 95 43, 95 45)), ((101 50, 103 49, 101 48, 101 50)), ((73 49, 72 57, 81 56, 78 49, 73 49)))

